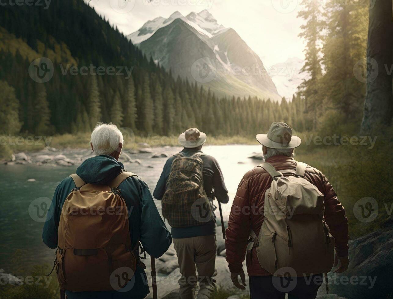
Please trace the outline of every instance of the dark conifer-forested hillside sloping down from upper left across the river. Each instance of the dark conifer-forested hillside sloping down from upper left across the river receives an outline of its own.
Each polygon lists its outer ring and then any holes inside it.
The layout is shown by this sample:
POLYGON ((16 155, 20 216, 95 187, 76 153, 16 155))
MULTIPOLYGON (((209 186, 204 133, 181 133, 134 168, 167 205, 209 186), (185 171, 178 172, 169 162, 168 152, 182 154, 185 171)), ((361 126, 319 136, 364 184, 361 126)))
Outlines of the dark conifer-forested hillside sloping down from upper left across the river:
POLYGON ((196 84, 172 78, 81 0, 52 2, 47 10, 4 6, 0 14, 0 80, 13 87, 0 96, 2 103, 13 102, 0 108, 1 123, 12 118, 16 124, 2 125, 2 134, 86 132, 97 121, 165 135, 191 126, 215 135, 252 135, 278 119, 298 130, 307 125, 304 100, 279 105, 256 98, 219 99, 196 84), (39 57, 53 61, 53 77, 46 83, 29 77, 29 65, 39 57), (67 64, 133 69, 129 79, 63 75, 67 64), (17 119, 11 110, 18 110, 17 119))

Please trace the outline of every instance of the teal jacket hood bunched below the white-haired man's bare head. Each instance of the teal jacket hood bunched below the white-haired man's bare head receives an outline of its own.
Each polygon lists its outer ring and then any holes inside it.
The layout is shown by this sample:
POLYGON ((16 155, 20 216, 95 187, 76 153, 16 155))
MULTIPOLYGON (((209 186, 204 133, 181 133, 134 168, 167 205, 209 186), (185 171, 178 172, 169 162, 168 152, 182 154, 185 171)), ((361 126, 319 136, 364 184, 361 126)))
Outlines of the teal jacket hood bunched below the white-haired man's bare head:
POLYGON ((87 183, 106 185, 123 171, 124 165, 107 155, 89 158, 78 167, 76 174, 87 183))

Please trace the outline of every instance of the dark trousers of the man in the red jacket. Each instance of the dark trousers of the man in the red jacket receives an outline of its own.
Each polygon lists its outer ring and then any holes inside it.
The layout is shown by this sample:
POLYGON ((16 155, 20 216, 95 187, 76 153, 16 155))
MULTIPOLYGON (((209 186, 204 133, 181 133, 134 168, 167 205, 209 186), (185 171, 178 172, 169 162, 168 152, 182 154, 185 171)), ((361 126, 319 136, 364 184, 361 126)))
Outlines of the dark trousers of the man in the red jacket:
POLYGON ((251 299, 315 299, 322 274, 309 277, 250 276, 251 299))

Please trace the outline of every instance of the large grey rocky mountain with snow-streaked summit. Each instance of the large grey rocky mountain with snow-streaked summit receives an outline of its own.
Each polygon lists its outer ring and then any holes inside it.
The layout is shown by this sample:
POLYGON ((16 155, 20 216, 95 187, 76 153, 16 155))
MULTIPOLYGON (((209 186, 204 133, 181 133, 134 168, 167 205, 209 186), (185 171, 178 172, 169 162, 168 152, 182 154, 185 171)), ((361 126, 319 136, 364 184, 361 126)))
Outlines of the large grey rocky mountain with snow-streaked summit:
POLYGON ((187 17, 176 11, 155 18, 127 37, 174 77, 197 81, 219 96, 281 101, 259 56, 206 9, 187 17))

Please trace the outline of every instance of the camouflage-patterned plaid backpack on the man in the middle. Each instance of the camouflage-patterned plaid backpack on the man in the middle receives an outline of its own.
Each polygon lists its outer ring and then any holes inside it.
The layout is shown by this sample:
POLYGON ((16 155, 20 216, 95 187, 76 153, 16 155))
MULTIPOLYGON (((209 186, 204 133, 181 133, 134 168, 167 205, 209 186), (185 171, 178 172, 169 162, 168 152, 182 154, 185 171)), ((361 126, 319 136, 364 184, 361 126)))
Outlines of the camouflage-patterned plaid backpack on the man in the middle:
POLYGON ((199 226, 214 219, 203 188, 203 153, 175 155, 162 198, 162 216, 171 227, 199 226))

